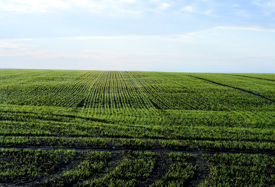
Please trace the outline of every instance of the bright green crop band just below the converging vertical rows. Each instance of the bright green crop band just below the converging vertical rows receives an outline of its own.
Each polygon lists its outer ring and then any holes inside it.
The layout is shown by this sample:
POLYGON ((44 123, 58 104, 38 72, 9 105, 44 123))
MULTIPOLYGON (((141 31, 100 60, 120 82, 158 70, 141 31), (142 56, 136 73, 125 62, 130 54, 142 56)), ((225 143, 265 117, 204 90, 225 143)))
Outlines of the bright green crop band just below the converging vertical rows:
POLYGON ((81 109, 0 105, 0 120, 32 123, 108 123, 121 125, 274 127, 275 112, 81 109))

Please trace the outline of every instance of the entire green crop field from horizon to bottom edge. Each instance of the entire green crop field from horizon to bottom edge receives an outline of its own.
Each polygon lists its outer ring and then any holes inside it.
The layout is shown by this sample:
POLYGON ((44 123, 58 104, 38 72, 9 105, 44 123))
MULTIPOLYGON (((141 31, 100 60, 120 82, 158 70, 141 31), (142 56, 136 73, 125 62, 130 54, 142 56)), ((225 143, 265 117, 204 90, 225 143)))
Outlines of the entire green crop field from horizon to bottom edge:
POLYGON ((0 186, 275 186, 275 74, 2 69, 0 186))

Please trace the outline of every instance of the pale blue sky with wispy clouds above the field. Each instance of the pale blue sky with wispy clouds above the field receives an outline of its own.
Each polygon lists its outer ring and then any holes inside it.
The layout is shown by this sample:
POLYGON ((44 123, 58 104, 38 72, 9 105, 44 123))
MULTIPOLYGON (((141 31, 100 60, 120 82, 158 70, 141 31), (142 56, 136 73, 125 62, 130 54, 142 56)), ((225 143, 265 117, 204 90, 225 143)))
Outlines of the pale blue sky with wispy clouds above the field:
POLYGON ((0 0, 0 68, 275 73, 275 0, 0 0))

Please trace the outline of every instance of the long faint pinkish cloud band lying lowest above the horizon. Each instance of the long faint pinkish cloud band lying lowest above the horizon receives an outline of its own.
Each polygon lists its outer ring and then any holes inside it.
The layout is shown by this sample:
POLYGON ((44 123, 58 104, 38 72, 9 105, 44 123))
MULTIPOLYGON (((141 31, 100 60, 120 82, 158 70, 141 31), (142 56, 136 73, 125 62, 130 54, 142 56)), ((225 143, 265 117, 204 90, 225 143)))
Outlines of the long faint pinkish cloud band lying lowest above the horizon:
POLYGON ((255 59, 255 58, 269 58, 275 59, 275 56, 264 56, 264 55, 254 55, 254 56, 233 56, 233 57, 218 57, 218 56, 206 56, 200 54, 176 54, 176 53, 146 53, 146 52, 115 52, 107 50, 83 50, 75 53, 64 53, 52 50, 36 50, 31 52, 26 51, 11 51, 7 53, 1 53, 0 56, 25 56, 37 59, 53 59, 53 58, 77 58, 77 59, 91 59, 101 62, 124 62, 128 63, 129 59, 131 62, 140 62, 141 59, 148 60, 168 60, 170 58, 175 58, 177 60, 187 59, 208 59, 208 60, 234 60, 234 59, 255 59))

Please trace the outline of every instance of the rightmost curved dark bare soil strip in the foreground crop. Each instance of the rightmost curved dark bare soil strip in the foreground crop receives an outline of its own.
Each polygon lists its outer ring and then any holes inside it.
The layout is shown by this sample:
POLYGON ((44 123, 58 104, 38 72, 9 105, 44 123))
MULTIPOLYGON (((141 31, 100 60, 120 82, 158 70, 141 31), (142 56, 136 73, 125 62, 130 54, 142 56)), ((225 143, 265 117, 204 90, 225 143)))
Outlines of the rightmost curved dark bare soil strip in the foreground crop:
POLYGON ((209 163, 207 162, 206 159, 199 157, 199 156, 194 157, 194 159, 195 159, 195 164, 196 164, 196 173, 187 185, 190 187, 198 186, 198 184, 205 181, 205 179, 210 174, 209 163))

